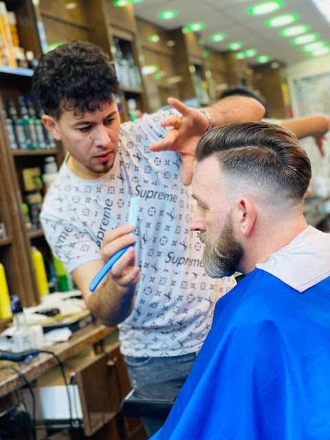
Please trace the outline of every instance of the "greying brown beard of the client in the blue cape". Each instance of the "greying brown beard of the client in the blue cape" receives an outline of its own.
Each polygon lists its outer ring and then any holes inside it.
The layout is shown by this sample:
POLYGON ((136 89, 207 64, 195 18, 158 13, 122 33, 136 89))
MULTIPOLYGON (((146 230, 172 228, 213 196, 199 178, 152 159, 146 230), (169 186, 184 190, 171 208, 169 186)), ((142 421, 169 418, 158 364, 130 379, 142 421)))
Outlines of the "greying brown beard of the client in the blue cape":
POLYGON ((204 270, 211 278, 230 276, 237 270, 243 256, 243 248, 234 238, 230 213, 217 242, 210 244, 206 232, 199 232, 199 239, 205 245, 203 252, 204 270))

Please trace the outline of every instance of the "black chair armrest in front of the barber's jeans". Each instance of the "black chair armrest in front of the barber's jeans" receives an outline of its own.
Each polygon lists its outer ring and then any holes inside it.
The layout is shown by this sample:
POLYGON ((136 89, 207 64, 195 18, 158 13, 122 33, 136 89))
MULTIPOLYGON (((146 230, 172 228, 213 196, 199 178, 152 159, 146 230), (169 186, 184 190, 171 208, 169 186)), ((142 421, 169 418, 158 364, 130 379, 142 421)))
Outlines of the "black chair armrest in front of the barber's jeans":
POLYGON ((122 400, 122 414, 125 417, 149 417, 151 419, 166 419, 174 400, 140 399, 135 397, 132 390, 122 400))

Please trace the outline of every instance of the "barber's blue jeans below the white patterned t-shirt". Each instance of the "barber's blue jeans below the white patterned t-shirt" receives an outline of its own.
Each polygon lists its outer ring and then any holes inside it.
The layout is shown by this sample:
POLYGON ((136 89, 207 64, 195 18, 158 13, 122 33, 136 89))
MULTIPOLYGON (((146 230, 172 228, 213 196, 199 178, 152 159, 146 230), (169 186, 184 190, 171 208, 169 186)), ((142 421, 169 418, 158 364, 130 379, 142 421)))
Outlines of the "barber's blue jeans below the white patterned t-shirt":
MULTIPOLYGON (((195 362, 197 353, 168 358, 124 356, 135 397, 174 400, 195 362)), ((165 419, 142 419, 148 437, 164 425, 165 419)))

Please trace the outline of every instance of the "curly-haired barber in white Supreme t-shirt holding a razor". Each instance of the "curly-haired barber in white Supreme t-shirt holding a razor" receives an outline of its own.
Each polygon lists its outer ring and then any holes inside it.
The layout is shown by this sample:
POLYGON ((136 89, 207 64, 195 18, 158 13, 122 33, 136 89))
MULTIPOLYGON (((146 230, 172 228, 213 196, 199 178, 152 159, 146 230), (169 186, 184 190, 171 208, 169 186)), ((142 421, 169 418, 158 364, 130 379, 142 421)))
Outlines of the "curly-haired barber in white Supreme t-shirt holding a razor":
MULTIPOLYGON (((45 237, 91 313, 118 325, 136 397, 175 399, 217 298, 236 284, 206 276, 201 244, 188 230, 194 204, 184 184, 192 178, 196 144, 210 126, 260 120, 263 106, 232 97, 201 112, 172 98, 172 110, 120 124, 119 84, 108 56, 78 41, 43 55, 33 85, 45 128, 67 150, 43 203, 45 237), (152 144, 173 151, 151 153, 152 144), (134 236, 126 224, 133 196, 140 199, 134 236), (91 294, 104 263, 133 242, 91 294)), ((152 434, 164 420, 144 422, 152 434)))

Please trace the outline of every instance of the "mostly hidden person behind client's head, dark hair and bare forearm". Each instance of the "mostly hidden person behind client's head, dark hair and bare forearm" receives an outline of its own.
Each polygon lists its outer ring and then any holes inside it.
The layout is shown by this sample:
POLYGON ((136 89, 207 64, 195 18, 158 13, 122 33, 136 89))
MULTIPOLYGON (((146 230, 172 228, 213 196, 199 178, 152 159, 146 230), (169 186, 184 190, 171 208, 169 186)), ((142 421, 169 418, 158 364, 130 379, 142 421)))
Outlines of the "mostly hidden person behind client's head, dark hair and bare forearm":
POLYGON ((292 131, 298 139, 304 139, 309 136, 314 137, 316 146, 318 146, 321 155, 325 155, 323 146, 326 140, 326 133, 330 130, 330 118, 328 115, 320 114, 306 116, 305 118, 274 119, 269 118, 267 102, 265 102, 263 96, 257 91, 242 85, 234 85, 225 89, 219 96, 219 99, 228 98, 230 96, 250 96, 250 98, 255 98, 265 107, 264 121, 283 126, 285 129, 292 131))

